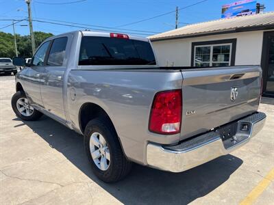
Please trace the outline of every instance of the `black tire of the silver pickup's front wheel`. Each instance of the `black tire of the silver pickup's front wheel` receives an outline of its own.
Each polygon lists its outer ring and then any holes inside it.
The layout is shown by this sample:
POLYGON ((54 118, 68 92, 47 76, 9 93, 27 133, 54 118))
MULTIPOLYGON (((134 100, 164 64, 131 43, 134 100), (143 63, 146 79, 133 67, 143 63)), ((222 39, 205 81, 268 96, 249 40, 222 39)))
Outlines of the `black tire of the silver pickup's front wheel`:
POLYGON ((25 93, 23 91, 18 91, 12 96, 12 109, 18 118, 21 118, 25 121, 38 120, 38 118, 42 116, 42 113, 40 113, 40 111, 28 105, 27 97, 25 96, 25 93), (24 99, 25 103, 24 105, 21 105, 19 102, 22 103, 24 99), (19 111, 18 108, 22 107, 28 107, 29 111, 27 112, 27 109, 25 109, 25 111, 19 111), (27 113, 29 113, 29 115, 27 113))

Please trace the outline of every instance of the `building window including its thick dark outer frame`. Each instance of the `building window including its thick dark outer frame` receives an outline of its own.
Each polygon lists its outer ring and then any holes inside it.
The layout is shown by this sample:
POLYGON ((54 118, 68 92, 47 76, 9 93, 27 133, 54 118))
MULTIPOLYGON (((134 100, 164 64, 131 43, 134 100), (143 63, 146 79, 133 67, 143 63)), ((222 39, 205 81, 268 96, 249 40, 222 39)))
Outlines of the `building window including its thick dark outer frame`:
POLYGON ((192 66, 234 66, 236 39, 192 43, 192 66))

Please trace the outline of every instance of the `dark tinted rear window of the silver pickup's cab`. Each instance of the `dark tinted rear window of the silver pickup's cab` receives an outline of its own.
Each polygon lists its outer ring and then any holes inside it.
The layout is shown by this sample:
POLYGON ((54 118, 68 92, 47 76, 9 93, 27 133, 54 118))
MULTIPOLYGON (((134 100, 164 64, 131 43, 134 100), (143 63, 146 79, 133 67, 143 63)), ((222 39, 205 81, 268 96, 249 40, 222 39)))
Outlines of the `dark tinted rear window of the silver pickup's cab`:
POLYGON ((84 36, 79 54, 79 66, 155 65, 149 42, 84 36))

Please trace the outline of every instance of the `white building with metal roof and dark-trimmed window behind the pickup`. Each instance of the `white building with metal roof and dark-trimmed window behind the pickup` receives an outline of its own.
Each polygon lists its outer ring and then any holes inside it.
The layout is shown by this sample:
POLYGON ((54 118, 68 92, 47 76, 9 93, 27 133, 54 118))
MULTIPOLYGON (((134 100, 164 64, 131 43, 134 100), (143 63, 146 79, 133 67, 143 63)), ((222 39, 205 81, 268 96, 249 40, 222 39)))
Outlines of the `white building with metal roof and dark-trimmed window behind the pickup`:
POLYGON ((274 96, 274 12, 187 25, 149 37, 160 66, 260 65, 274 96))

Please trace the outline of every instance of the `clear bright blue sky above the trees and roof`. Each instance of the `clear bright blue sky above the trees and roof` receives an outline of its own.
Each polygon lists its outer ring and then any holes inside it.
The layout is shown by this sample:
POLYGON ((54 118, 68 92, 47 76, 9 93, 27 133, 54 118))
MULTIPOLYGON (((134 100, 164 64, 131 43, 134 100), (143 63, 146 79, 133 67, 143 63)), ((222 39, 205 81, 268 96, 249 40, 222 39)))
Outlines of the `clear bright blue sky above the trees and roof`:
MULTIPOLYGON (((179 27, 183 27, 187 24, 219 19, 222 5, 235 2, 233 0, 203 0, 199 3, 200 1, 202 0, 32 0, 31 5, 34 20, 55 23, 34 21, 34 31, 57 35, 67 31, 83 30, 84 28, 71 27, 71 25, 76 25, 75 23, 81 23, 85 25, 77 26, 150 36, 153 33, 175 29, 175 12, 173 11, 176 6, 183 8, 179 10, 179 27), (71 3, 73 1, 79 2, 71 3), (195 3, 197 5, 192 5, 195 3), (161 14, 166 15, 136 23, 161 14)), ((274 0, 258 0, 258 3, 264 3, 265 12, 274 11, 274 0)), ((0 31, 13 32, 12 26, 5 27, 12 22, 5 19, 25 18, 27 18, 25 0, 0 0, 0 31), (1 29, 2 27, 5 28, 1 29)), ((21 35, 28 35, 28 22, 16 23, 15 31, 21 35)))

